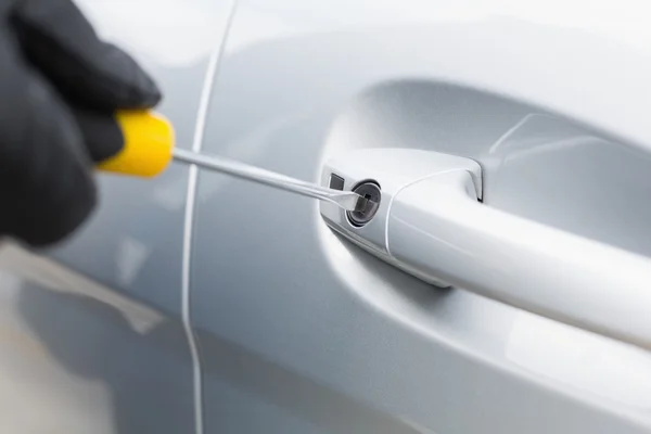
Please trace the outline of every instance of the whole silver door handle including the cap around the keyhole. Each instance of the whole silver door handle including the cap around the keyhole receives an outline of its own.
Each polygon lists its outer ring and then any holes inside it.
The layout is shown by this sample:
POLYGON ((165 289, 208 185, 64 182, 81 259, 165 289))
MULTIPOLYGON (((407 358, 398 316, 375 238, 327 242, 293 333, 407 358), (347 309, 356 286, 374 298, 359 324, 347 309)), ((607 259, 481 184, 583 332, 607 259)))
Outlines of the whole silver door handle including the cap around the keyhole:
POLYGON ((345 188, 373 179, 376 215, 363 227, 321 205, 327 224, 385 261, 438 286, 459 286, 620 341, 651 348, 651 259, 481 202, 470 158, 365 150, 323 173, 345 188))

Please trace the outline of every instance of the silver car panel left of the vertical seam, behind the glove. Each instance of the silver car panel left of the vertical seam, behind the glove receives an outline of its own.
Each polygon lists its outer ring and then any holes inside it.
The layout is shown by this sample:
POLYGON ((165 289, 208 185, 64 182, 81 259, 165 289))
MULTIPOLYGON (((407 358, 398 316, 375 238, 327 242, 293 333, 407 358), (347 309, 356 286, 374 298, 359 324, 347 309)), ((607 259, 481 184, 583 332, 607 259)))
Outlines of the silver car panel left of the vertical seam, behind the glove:
MULTIPOLYGON (((77 4, 152 73, 165 93, 161 111, 190 148, 230 2, 77 4)), ((2 251, 1 432, 195 430, 182 321, 188 168, 155 180, 100 175, 99 184, 99 209, 61 246, 38 256, 2 251)))

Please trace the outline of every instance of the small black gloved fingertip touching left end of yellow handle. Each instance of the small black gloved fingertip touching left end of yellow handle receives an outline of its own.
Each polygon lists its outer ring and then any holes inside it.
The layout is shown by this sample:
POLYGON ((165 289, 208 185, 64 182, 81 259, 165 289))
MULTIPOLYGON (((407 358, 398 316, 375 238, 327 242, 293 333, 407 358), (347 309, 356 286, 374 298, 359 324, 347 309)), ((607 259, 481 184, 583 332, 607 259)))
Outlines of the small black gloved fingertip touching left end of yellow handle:
POLYGON ((93 163, 103 162, 122 151, 125 139, 113 115, 79 107, 73 107, 73 114, 93 163))

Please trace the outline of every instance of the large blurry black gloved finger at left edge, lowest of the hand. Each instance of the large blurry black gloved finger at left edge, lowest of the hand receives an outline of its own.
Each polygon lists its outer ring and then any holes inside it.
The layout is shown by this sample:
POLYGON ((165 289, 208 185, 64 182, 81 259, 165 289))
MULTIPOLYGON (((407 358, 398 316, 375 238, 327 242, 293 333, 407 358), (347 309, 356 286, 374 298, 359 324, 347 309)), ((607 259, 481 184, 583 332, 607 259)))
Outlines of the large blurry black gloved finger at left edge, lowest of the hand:
POLYGON ((0 232, 44 246, 91 213, 92 164, 73 115, 10 40, 0 28, 0 232))

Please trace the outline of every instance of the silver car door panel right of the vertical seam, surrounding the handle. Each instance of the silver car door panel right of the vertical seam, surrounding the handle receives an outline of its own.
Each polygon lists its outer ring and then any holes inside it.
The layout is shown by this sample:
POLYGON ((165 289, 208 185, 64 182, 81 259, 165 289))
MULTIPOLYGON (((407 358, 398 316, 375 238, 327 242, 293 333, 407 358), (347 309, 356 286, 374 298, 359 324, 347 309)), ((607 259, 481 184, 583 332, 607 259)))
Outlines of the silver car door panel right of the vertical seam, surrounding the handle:
MULTIPOLYGON (((315 182, 353 151, 354 168, 379 149, 471 158, 482 206, 649 256, 644 8, 240 0, 201 152, 315 182)), ((205 433, 651 430, 648 336, 437 289, 336 234, 314 201, 196 177, 191 320, 205 433)), ((587 296, 553 305, 589 309, 596 298, 576 290, 587 296)))

